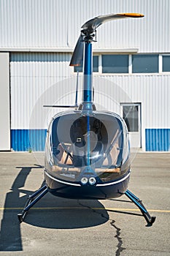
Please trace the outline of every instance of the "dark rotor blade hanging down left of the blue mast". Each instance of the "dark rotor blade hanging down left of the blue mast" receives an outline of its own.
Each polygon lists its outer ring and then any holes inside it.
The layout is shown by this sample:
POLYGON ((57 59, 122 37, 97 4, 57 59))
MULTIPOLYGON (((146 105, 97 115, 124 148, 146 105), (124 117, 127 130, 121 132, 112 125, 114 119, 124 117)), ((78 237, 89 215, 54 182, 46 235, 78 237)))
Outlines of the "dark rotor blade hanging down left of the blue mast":
POLYGON ((74 48, 74 53, 72 55, 72 59, 69 64, 70 66, 80 66, 82 64, 83 51, 84 51, 84 42, 82 42, 82 35, 80 35, 77 41, 77 45, 74 48))

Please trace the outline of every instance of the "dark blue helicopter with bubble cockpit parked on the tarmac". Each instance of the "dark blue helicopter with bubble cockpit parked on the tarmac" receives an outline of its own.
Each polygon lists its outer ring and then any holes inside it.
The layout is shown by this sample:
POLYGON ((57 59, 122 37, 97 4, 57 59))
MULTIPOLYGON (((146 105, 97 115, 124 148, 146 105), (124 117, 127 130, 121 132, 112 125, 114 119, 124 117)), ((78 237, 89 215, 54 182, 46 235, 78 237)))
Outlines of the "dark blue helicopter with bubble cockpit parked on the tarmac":
POLYGON ((131 174, 128 128, 117 113, 96 110, 93 102, 92 42, 101 24, 123 18, 142 18, 139 13, 101 15, 81 27, 70 66, 83 60, 82 102, 72 106, 45 105, 53 108, 74 108, 57 113, 47 129, 45 143, 45 185, 29 195, 26 206, 18 214, 23 222, 28 210, 47 192, 71 199, 104 200, 126 195, 142 212, 147 225, 155 222, 142 200, 128 190, 131 174))

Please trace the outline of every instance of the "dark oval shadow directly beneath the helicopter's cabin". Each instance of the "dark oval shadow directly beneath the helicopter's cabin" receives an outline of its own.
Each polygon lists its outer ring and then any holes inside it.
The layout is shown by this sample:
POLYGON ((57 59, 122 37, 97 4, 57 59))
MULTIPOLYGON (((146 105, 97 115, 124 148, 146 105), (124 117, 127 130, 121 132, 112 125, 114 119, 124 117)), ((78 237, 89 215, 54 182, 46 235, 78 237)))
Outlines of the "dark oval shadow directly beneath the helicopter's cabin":
POLYGON ((109 220, 98 200, 72 200, 48 193, 37 203, 38 209, 29 211, 24 220, 29 225, 53 229, 95 227, 109 220))

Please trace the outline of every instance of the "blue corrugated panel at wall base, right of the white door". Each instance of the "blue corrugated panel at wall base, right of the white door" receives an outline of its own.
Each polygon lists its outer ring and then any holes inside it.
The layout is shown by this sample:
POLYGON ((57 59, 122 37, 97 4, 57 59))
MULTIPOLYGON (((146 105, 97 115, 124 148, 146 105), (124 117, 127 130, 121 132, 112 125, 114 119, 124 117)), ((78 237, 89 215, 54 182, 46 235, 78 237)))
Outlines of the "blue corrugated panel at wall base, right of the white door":
POLYGON ((170 129, 145 129, 146 151, 170 151, 170 129))

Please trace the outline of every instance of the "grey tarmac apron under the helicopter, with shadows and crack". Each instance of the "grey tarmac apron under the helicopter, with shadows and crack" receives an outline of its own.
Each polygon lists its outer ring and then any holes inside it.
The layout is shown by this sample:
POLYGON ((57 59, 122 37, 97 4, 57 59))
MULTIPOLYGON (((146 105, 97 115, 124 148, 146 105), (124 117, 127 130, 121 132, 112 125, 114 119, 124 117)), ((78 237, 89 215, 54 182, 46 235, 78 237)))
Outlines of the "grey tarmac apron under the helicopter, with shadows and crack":
POLYGON ((21 224, 17 214, 42 185, 33 153, 0 153, 0 255, 170 255, 170 154, 139 153, 128 189, 142 199, 152 227, 125 195, 69 200, 47 193, 21 224))

